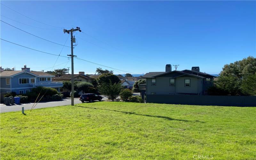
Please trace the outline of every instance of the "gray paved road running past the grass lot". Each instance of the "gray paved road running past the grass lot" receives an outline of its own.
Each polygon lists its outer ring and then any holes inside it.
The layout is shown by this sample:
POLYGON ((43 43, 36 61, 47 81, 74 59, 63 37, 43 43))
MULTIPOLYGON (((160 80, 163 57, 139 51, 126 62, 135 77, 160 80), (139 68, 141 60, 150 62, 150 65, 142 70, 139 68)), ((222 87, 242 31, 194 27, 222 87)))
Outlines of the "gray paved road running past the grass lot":
MULTIPOLYGON (((140 95, 140 93, 133 93, 133 95, 140 95)), ((108 98, 103 97, 104 100, 108 100, 108 98)), ((74 104, 81 103, 79 98, 74 99, 74 104)), ((34 103, 27 103, 27 104, 20 104, 20 105, 13 105, 13 106, 5 106, 3 104, 0 105, 0 113, 4 112, 12 112, 12 111, 21 111, 21 107, 24 107, 25 110, 30 110, 32 108, 34 103)), ((56 106, 65 106, 65 105, 70 105, 71 104, 71 99, 63 99, 62 101, 53 101, 53 102, 40 102, 36 105, 34 109, 37 108, 48 108, 48 107, 56 107, 56 106)))

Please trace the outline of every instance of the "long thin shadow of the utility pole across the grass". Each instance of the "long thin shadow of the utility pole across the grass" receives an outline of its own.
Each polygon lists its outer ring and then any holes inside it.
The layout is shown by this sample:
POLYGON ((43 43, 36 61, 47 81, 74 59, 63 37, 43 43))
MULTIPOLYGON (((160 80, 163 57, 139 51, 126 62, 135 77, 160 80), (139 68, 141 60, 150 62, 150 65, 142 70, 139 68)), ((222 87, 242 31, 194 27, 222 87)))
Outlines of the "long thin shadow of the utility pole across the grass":
MULTIPOLYGON (((90 108, 90 107, 84 107, 84 106, 79 106, 79 105, 75 105, 77 107, 82 107, 82 108, 90 108)), ((143 114, 138 114, 135 112, 124 112, 124 111, 118 111, 118 110, 111 110, 111 109, 102 109, 102 108, 90 108, 90 109, 100 109, 100 110, 108 110, 108 111, 114 111, 114 112, 121 112, 124 114, 129 114, 129 115, 138 115, 138 116, 147 116, 147 117, 155 117, 155 118, 163 118, 166 120, 175 120, 175 121, 183 121, 183 122, 201 122, 201 121, 189 121, 189 120, 184 120, 184 119, 175 119, 175 118, 170 118, 170 117, 166 117, 166 116, 152 116, 152 115, 143 115, 143 114)), ((201 123, 205 123, 205 122, 201 122, 201 123)))

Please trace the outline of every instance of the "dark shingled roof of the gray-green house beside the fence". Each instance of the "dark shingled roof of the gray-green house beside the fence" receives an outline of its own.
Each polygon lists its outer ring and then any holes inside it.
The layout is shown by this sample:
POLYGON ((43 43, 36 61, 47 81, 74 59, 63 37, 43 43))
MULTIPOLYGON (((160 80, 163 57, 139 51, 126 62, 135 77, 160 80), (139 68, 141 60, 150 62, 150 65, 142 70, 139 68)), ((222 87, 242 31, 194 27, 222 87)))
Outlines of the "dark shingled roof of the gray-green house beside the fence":
MULTIPOLYGON (((183 75, 188 75, 188 76, 194 76, 194 77, 199 77, 199 78, 205 78, 206 76, 209 76, 209 74, 195 74, 195 73, 191 73, 191 72, 187 72, 187 71, 171 71, 171 72, 149 72, 149 73, 146 73, 142 78, 155 78, 155 77, 158 77, 158 76, 163 76, 163 75, 166 75, 166 74, 169 74, 169 73, 180 73, 179 76, 183 76, 183 75)), ((194 71, 193 71, 194 72, 194 71)), ((179 76, 175 76, 175 77, 179 77, 179 76)), ((212 76, 212 75, 210 75, 212 76)), ((212 76, 214 77, 214 76, 212 76)))

